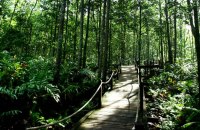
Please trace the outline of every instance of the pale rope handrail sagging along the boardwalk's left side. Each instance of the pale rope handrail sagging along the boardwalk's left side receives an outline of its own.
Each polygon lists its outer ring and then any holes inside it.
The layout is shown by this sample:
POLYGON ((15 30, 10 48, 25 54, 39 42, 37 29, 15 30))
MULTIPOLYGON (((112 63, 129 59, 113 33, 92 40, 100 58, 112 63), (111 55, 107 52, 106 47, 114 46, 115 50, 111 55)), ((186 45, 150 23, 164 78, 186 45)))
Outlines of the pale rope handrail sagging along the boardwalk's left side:
MULTIPOLYGON (((111 80, 111 79, 113 78, 113 76, 115 75, 114 73, 115 73, 115 72, 112 72, 110 78, 109 78, 106 82, 103 82, 103 81, 101 80, 101 83, 100 83, 99 87, 97 88, 96 92, 92 95, 92 97, 91 97, 81 108, 79 108, 77 111, 75 111, 75 112, 72 113, 71 115, 69 115, 69 116, 67 116, 67 117, 65 117, 65 118, 63 118, 63 119, 60 119, 60 120, 58 120, 58 121, 55 121, 55 122, 53 122, 53 123, 49 123, 49 124, 41 125, 41 126, 29 127, 29 128, 26 128, 26 130, 36 130, 36 129, 40 129, 40 128, 46 128, 46 127, 53 126, 53 125, 56 125, 56 124, 58 124, 58 123, 61 123, 61 122, 65 121, 65 120, 67 120, 67 119, 69 119, 69 118, 75 116, 77 113, 79 113, 80 111, 82 111, 82 110, 92 101, 92 99, 96 96, 96 94, 98 93, 98 91, 99 91, 100 89, 102 90, 102 85, 103 85, 103 84, 105 85, 105 84, 108 84, 108 83, 110 82, 110 80, 111 80)), ((118 72, 117 72, 117 73, 118 73, 118 72)), ((101 95, 101 96, 102 96, 102 95, 101 95)))

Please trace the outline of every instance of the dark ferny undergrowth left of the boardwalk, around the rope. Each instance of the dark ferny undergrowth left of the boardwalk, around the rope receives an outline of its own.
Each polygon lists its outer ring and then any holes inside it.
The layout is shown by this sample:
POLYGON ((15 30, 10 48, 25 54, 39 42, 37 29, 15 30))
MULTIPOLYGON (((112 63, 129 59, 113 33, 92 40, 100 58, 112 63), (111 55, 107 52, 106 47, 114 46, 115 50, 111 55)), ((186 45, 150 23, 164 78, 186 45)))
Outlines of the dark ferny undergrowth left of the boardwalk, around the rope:
MULTIPOLYGON (((0 53, 0 129, 24 129, 52 123, 80 108, 96 90, 95 71, 64 65, 59 84, 54 84, 54 60, 43 57, 20 59, 0 53)), ((59 123, 55 129, 70 127, 87 111, 59 123)))

